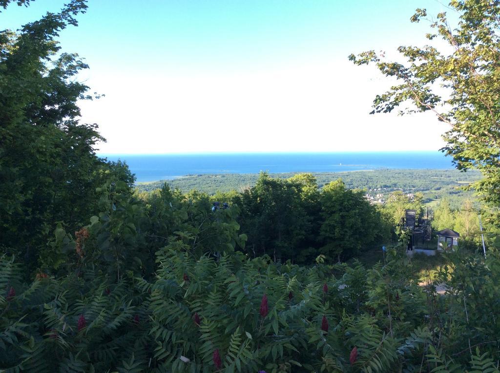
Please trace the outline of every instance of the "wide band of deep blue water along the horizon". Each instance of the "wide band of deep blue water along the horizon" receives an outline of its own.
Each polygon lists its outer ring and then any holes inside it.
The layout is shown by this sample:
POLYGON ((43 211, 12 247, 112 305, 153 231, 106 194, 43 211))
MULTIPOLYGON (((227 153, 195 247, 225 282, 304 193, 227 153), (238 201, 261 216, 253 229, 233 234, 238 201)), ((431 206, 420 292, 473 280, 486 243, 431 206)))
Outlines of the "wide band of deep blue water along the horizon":
POLYGON ((218 153, 163 155, 105 155, 125 161, 137 182, 219 173, 343 172, 377 168, 452 168, 438 151, 360 153, 218 153))

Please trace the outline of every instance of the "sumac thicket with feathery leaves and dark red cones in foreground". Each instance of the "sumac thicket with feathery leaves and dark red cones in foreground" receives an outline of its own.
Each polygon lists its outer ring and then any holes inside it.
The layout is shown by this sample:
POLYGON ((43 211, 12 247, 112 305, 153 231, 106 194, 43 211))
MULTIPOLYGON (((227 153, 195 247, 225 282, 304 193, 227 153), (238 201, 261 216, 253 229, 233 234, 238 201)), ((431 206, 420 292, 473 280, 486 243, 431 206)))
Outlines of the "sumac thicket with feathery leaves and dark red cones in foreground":
POLYGON ((32 283, 3 255, 0 369, 498 372, 498 255, 447 255, 438 295, 401 252, 366 269, 166 246, 152 279, 82 266, 32 283))

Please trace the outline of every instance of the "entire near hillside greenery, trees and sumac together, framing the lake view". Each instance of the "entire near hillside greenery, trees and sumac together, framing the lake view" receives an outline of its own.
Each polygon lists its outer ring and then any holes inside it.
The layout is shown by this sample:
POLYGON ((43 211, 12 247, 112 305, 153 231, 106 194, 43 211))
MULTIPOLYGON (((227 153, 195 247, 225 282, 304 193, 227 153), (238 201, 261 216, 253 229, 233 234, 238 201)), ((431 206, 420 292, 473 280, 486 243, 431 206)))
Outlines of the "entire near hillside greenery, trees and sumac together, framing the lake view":
MULTIPOLYGON (((444 151, 468 171, 428 171, 441 189, 476 179, 480 209, 435 205, 434 228, 462 235, 432 262, 406 255, 410 232, 399 224, 405 209, 424 213, 429 180, 411 195, 417 183, 404 181, 383 204, 351 188, 385 188, 369 173, 352 173, 367 178, 356 185, 350 173, 263 173, 213 194, 134 190, 126 164, 96 156, 104 139, 77 105, 98 98, 77 79, 88 66, 57 43, 85 1, 1 31, 0 371, 499 372, 500 3, 449 6, 457 29, 441 13, 427 37, 451 54, 350 56, 401 83, 375 98, 374 112, 409 101, 411 113, 451 125, 444 151), (381 244, 376 264, 356 260, 381 244)), ((412 21, 425 15, 417 9, 412 21)))

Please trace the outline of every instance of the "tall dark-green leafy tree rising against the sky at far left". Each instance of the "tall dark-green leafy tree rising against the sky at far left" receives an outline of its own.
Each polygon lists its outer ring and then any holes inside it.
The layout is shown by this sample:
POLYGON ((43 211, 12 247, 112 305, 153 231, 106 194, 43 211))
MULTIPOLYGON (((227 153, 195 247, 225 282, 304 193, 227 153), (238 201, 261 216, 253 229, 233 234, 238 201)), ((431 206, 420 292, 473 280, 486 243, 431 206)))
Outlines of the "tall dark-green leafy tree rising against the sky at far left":
POLYGON ((88 66, 56 41, 85 9, 72 0, 18 32, 0 32, 0 247, 31 264, 56 222, 74 231, 91 216, 107 177, 133 182, 122 163, 109 167, 95 155, 104 139, 95 124, 79 122, 77 105, 92 98, 76 79, 88 66))

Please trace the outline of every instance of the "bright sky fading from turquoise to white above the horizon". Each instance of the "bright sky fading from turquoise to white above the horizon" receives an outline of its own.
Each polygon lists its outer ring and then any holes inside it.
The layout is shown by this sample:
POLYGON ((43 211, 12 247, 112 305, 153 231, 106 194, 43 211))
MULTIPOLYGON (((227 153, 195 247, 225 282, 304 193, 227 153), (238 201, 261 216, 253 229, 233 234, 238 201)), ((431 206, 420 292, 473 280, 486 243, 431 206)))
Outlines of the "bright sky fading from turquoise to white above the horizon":
MULTIPOLYGON (((16 29, 64 1, 0 13, 16 29)), ((368 115, 390 86, 351 52, 422 44, 416 7, 435 0, 90 0, 60 36, 106 96, 82 102, 103 153, 432 150, 446 130, 430 115, 368 115)))

